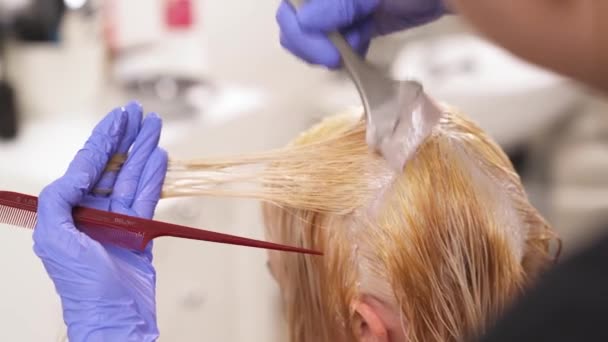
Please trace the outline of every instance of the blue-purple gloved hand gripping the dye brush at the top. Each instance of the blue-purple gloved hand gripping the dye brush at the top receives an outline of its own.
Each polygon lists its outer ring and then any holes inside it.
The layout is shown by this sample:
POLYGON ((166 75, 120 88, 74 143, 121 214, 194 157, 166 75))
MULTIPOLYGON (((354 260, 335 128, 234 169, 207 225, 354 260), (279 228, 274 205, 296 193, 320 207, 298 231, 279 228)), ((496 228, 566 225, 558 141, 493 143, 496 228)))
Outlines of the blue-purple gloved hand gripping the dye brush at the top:
POLYGON ((327 32, 340 31, 361 55, 372 38, 419 26, 447 13, 445 0, 309 0, 297 11, 283 0, 277 11, 281 45, 311 64, 331 69, 340 55, 327 32))

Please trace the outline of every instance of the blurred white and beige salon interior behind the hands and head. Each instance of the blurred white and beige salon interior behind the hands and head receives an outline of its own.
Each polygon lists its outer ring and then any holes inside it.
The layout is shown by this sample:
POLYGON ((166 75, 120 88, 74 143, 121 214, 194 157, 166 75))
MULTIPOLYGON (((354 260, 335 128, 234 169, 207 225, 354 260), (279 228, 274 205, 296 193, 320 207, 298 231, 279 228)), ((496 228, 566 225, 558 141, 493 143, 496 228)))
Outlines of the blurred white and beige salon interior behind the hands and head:
MULTIPOLYGON (((285 52, 278 0, 0 0, 0 189, 37 195, 130 99, 173 158, 279 147, 358 105, 344 74, 285 52)), ((376 40, 369 58, 459 107, 509 153, 564 254, 608 209, 608 104, 479 38, 458 18, 376 40)), ((163 200, 157 219, 263 239, 258 203, 163 200)), ((0 227, 1 341, 65 341, 31 231, 0 227)), ((161 341, 285 341, 263 250, 160 239, 161 341)))

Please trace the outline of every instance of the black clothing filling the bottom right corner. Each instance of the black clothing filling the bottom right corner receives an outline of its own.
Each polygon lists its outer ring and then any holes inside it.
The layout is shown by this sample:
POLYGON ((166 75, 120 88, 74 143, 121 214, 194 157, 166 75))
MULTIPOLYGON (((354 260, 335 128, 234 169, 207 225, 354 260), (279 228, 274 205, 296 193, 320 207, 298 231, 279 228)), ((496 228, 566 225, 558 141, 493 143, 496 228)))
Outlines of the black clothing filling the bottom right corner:
POLYGON ((605 235, 547 273, 480 342, 603 342, 607 319, 605 235))

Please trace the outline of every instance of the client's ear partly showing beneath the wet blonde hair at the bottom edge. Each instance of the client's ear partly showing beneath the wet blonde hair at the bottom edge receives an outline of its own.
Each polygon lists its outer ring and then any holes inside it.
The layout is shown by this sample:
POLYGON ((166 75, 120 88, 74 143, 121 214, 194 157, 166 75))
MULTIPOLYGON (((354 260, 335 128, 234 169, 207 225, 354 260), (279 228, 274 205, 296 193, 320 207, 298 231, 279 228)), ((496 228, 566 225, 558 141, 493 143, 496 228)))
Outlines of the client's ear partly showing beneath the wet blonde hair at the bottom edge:
POLYGON ((389 331, 376 305, 364 300, 353 303, 355 334, 361 342, 389 342, 389 331))

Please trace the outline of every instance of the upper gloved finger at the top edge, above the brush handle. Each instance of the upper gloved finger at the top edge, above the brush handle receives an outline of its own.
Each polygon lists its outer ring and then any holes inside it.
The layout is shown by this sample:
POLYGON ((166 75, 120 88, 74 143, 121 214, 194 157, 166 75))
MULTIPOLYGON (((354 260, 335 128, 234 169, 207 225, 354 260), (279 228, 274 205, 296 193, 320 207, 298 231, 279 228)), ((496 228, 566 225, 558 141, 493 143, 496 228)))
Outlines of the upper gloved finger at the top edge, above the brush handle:
POLYGON ((310 0, 298 9, 297 20, 305 31, 339 31, 368 18, 379 4, 380 0, 310 0))

